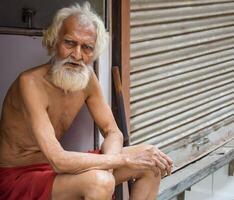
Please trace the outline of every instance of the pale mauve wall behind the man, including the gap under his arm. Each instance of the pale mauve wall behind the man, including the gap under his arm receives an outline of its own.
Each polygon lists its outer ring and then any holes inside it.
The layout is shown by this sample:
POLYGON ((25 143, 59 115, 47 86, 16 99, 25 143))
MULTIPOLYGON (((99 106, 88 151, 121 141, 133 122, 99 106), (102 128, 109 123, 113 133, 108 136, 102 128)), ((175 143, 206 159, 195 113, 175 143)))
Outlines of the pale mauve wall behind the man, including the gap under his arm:
MULTIPOLYGON (((48 60, 41 37, 0 35, 0 109, 7 89, 17 75, 48 60)), ((93 129, 93 121, 84 106, 61 143, 67 150, 93 149, 93 129)))

